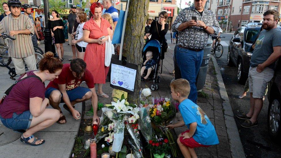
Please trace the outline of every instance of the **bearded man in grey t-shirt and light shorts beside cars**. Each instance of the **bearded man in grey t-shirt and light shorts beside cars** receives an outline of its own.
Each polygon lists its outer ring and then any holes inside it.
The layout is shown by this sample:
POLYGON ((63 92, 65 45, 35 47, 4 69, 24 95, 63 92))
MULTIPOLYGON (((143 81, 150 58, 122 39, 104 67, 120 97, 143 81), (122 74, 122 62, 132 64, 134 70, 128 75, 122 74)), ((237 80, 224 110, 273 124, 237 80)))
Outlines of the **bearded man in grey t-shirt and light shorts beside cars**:
POLYGON ((249 69, 250 110, 247 114, 237 115, 246 120, 242 127, 258 125, 257 118, 263 107, 263 96, 267 83, 274 75, 276 60, 281 56, 281 31, 277 28, 279 12, 268 10, 263 14, 263 28, 255 43, 249 69))

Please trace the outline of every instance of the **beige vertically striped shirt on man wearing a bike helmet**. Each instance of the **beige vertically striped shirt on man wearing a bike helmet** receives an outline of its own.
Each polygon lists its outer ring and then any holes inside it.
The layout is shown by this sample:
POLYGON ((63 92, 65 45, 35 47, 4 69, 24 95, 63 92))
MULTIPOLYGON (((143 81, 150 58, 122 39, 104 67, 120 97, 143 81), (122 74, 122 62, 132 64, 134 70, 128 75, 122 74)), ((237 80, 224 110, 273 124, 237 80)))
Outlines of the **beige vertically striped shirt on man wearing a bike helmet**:
POLYGON ((9 40, 8 55, 12 58, 25 58, 35 53, 31 40, 31 35, 34 34, 34 26, 30 18, 24 14, 20 14, 18 18, 14 18, 10 14, 0 22, 0 33, 6 33, 7 35, 9 35, 10 31, 25 29, 28 29, 31 34, 14 35, 12 37, 16 39, 13 41, 9 40))

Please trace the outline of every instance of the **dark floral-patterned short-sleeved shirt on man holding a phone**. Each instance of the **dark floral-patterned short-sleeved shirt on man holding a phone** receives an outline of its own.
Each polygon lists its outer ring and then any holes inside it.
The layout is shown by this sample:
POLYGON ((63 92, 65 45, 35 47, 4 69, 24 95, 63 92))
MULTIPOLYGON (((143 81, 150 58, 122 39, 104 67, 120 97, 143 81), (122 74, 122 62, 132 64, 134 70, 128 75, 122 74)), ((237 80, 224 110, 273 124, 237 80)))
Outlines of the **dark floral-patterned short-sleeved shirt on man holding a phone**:
MULTIPOLYGON (((200 16, 195 7, 185 8, 179 13, 172 24, 172 31, 178 31, 177 29, 180 24, 191 20, 192 16, 196 16, 197 20, 203 21, 206 26, 212 27, 215 32, 214 34, 218 33, 219 23, 217 22, 216 15, 212 11, 204 9, 202 16, 200 16)), ((192 26, 178 32, 178 45, 182 47, 193 50, 201 50, 207 45, 209 34, 204 30, 204 28, 192 26)))

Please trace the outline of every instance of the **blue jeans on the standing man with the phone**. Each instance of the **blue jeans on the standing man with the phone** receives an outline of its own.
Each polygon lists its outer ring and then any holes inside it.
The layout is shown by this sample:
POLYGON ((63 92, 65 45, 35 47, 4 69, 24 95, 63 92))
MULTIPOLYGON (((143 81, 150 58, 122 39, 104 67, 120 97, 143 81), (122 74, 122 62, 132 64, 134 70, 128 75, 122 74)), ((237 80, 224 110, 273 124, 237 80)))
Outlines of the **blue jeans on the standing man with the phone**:
POLYGON ((182 47, 178 47, 176 52, 176 61, 181 70, 181 77, 187 79, 190 84, 188 99, 195 104, 197 102, 197 88, 195 82, 203 60, 203 54, 203 50, 196 52, 182 47))

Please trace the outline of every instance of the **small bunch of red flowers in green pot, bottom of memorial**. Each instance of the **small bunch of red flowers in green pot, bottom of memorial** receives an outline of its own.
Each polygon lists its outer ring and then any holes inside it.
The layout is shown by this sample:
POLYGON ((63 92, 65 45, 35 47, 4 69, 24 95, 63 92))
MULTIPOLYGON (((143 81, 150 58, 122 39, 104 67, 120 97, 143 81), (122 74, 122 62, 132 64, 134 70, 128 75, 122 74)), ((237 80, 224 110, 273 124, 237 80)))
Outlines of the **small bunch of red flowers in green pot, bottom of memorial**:
POLYGON ((168 142, 168 139, 163 138, 149 140, 148 148, 150 153, 153 153, 154 157, 164 157, 164 154, 169 155, 168 151, 170 151, 170 146, 168 142))

